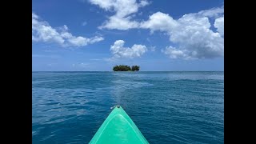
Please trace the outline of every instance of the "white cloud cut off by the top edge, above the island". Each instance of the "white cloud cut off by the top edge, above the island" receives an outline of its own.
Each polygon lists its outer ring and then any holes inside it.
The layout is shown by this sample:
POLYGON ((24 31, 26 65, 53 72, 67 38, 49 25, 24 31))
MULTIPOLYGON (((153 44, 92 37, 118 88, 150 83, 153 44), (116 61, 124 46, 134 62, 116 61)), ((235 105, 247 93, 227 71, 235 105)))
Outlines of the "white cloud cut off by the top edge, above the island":
POLYGON ((97 5, 106 11, 114 11, 115 14, 99 26, 100 29, 129 30, 137 28, 139 22, 133 21, 130 14, 138 12, 138 8, 149 5, 146 0, 89 0, 91 4, 97 5))

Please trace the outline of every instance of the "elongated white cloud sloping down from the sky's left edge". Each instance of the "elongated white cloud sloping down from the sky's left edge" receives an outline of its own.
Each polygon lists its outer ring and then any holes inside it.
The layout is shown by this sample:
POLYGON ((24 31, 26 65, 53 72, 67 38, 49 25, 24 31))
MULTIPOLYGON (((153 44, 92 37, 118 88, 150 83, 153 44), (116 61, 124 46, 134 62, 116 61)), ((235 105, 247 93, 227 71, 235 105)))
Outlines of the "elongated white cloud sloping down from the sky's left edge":
POLYGON ((75 37, 68 32, 66 25, 54 29, 48 22, 40 21, 38 15, 32 13, 32 41, 34 42, 56 42, 61 46, 86 46, 103 39, 98 36, 93 38, 75 37))

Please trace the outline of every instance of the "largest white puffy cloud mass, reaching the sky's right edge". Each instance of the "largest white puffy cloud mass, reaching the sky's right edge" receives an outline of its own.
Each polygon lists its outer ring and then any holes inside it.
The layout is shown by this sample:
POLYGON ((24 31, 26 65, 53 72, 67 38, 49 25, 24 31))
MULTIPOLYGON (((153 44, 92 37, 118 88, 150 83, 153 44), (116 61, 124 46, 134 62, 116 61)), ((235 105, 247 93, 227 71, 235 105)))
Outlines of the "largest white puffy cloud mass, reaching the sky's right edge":
POLYGON ((140 28, 165 32, 170 42, 178 45, 162 50, 170 58, 217 58, 224 54, 224 16, 217 18, 214 26, 218 32, 210 30, 209 17, 220 15, 222 10, 201 11, 198 14, 185 14, 175 20, 169 14, 157 12, 147 21, 141 22, 140 28), (215 13, 214 13, 215 12, 215 13))

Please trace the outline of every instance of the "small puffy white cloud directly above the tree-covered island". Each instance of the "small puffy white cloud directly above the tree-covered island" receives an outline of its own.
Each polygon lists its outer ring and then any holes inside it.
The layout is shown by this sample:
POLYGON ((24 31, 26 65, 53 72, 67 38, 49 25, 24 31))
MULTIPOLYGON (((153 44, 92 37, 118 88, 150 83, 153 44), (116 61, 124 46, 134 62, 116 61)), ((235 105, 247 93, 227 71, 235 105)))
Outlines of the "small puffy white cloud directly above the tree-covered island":
POLYGON ((144 45, 137 45, 130 47, 124 47, 125 41, 117 40, 114 45, 110 47, 110 51, 114 54, 113 58, 138 58, 142 54, 146 53, 147 49, 144 45))

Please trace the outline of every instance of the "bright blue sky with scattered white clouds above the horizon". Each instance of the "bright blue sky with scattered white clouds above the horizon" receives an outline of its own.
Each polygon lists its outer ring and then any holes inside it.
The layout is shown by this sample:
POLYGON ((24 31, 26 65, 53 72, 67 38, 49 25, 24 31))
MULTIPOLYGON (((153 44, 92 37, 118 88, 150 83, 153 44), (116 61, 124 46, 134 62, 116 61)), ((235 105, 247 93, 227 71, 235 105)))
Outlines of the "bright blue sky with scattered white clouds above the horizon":
POLYGON ((223 0, 32 0, 32 71, 224 70, 223 0))

